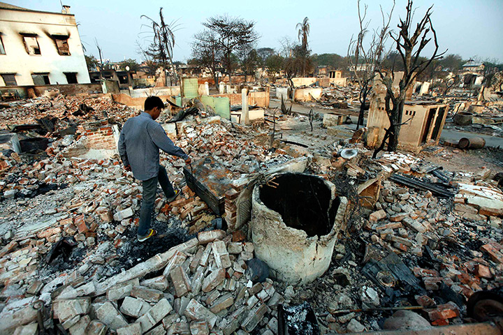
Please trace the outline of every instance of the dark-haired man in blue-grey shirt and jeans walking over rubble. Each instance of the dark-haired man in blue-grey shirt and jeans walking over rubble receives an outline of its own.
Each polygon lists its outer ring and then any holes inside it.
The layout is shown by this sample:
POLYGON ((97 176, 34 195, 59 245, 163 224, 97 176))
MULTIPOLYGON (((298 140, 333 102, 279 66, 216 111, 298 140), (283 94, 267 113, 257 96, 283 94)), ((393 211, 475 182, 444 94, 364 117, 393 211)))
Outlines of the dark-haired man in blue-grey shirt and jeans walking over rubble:
POLYGON ((184 158, 186 164, 191 163, 191 158, 173 144, 162 126, 155 121, 163 109, 164 104, 158 96, 148 97, 145 100, 145 112, 126 121, 117 144, 126 171, 132 171, 136 179, 143 181, 143 200, 138 225, 140 242, 157 233, 150 228, 157 182, 161 184, 168 202, 172 202, 180 194, 180 190, 173 189, 166 169, 159 164, 159 149, 166 154, 184 158))

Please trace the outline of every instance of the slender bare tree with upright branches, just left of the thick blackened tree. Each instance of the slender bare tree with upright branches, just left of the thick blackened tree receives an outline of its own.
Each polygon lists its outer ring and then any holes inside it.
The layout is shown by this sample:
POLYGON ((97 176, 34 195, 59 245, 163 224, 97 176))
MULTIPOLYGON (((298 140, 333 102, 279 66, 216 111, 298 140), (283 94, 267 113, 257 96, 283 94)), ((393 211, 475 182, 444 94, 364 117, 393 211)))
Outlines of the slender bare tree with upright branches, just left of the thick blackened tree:
POLYGON ((360 85, 360 94, 358 96, 358 100, 360 101, 360 113, 358 114, 356 129, 360 128, 360 125, 363 125, 365 101, 370 93, 370 89, 372 89, 372 82, 374 81, 374 77, 377 75, 376 71, 380 70, 381 61, 384 57, 386 57, 384 54, 384 48, 390 32, 389 26, 391 16, 393 15, 393 9, 395 8, 395 1, 393 1, 393 7, 387 15, 384 15, 384 11, 381 7, 382 27, 374 30, 370 42, 364 44, 365 36, 369 33, 368 26, 370 24, 370 20, 365 21, 365 18, 367 17, 367 8, 368 6, 364 5, 362 13, 360 0, 358 0, 358 21, 360 22, 360 32, 358 33, 357 38, 351 37, 347 52, 349 66, 356 78, 356 81, 360 85))

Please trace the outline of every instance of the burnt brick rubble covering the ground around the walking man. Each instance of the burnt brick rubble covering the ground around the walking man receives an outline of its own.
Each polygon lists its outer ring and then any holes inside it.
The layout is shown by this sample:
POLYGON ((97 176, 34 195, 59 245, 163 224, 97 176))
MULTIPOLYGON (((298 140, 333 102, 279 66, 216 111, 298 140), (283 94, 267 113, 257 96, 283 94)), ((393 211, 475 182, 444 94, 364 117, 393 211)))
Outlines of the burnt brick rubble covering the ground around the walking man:
MULTIPOLYGON (((120 126, 136 114, 103 96, 37 98, 0 110, 0 128, 44 117, 55 124, 44 134, 20 135, 50 137, 47 150, 0 156, 0 334, 44 327, 70 334, 270 335, 282 321, 278 306, 305 301, 321 334, 392 328, 394 311, 380 310, 390 307, 418 306, 404 318, 435 327, 473 322, 469 297, 503 281, 503 195, 492 180, 502 170, 501 150, 435 147, 372 160, 362 144, 328 135, 319 117, 311 131, 307 117, 276 112, 275 131, 284 136, 273 149, 270 122, 189 117, 174 140, 194 162, 213 156, 231 171, 229 179, 239 179, 308 156, 307 172, 330 179, 353 202, 323 276, 305 285, 258 282, 260 269, 248 267, 254 245, 246 227, 217 229, 218 217, 185 186, 180 158, 161 154, 183 194, 166 203, 159 191, 153 221, 159 236, 141 244, 140 183, 117 155, 69 154, 84 140, 82 125, 107 119, 120 126), (61 137, 58 131, 69 126, 77 133, 61 137), (347 161, 339 153, 350 147, 358 156, 347 161), (454 196, 392 181, 395 172, 454 196), (370 179, 380 180, 379 196, 371 206, 355 206, 358 186, 370 179)), ((307 309, 292 313, 287 322, 309 334, 307 309)))

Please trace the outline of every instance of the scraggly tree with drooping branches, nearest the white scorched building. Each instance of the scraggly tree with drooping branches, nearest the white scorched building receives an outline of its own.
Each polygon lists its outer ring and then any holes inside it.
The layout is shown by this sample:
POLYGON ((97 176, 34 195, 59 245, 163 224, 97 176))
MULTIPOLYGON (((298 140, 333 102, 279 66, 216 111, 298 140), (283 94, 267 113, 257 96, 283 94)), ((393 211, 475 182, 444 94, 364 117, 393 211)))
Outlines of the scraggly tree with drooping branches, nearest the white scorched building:
MULTIPOLYGON (((141 15, 141 18, 145 18, 150 21, 149 27, 152 29, 150 31, 150 37, 152 38, 152 44, 149 49, 146 50, 154 59, 159 61, 161 64, 164 75, 166 78, 166 84, 168 82, 168 72, 173 76, 175 84, 178 81, 177 71, 173 64, 173 47, 175 47, 175 29, 177 28, 176 21, 166 23, 164 21, 163 8, 159 8, 159 22, 151 19, 147 15, 141 15)), ((141 33, 140 33, 141 34, 141 33)))

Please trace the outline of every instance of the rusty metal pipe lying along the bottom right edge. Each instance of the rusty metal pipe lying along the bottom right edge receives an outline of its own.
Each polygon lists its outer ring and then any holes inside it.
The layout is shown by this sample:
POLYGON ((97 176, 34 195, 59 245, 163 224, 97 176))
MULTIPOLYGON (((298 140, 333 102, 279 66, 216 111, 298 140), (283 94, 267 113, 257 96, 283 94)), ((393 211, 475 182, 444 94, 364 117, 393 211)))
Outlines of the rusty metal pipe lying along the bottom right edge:
POLYGON ((503 318, 495 318, 490 322, 467 323, 464 325, 449 325, 432 327, 423 330, 380 330, 377 332, 348 333, 347 335, 503 335, 503 318))

